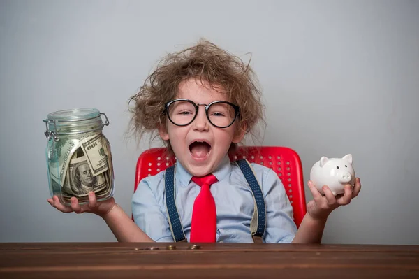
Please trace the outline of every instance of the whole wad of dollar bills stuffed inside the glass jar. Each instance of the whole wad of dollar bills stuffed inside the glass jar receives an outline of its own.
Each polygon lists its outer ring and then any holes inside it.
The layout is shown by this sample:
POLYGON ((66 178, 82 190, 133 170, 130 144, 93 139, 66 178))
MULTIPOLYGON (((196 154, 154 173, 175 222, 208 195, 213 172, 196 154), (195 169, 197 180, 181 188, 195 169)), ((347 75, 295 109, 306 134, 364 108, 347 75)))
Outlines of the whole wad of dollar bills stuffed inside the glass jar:
POLYGON ((50 150, 55 148, 53 152, 64 157, 56 156, 55 161, 50 160, 49 166, 52 169, 53 192, 61 192, 61 201, 69 205, 71 197, 75 196, 80 204, 87 203, 90 191, 96 194, 97 199, 112 195, 113 167, 108 139, 101 133, 87 133, 78 138, 61 136, 59 141, 59 145, 52 146, 50 150), (98 167, 95 169, 94 166, 98 167))

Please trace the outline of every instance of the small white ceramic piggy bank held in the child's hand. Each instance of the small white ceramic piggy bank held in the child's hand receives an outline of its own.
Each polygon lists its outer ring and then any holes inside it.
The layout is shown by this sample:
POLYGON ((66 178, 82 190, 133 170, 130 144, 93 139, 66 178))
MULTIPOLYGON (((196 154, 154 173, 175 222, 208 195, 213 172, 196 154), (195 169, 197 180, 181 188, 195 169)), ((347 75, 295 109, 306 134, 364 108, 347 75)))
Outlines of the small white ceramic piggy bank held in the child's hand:
POLYGON ((343 158, 321 157, 311 168, 310 180, 321 194, 324 194, 321 189, 323 185, 327 185, 335 196, 343 194, 345 185, 355 185, 352 155, 348 154, 343 158))

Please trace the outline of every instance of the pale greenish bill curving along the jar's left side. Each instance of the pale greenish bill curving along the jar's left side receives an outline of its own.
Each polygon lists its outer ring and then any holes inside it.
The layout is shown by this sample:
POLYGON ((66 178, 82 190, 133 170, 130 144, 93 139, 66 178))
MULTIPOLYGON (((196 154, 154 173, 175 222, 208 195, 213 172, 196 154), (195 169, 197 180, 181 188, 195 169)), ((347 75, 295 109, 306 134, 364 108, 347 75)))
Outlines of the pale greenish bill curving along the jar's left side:
POLYGON ((80 141, 93 135, 94 133, 85 133, 72 138, 59 136, 58 141, 52 142, 50 150, 48 150, 50 153, 50 176, 56 183, 64 185, 71 156, 79 147, 80 141))

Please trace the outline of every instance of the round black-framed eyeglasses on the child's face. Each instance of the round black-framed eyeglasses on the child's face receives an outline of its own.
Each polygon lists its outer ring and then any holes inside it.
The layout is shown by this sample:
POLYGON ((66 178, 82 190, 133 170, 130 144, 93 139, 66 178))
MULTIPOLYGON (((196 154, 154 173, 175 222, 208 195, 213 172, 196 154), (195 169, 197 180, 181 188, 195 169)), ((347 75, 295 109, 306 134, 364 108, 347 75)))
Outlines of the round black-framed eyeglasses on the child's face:
POLYGON ((213 101, 206 105, 205 103, 196 104, 188 99, 169 101, 166 103, 165 109, 170 122, 177 126, 186 126, 195 120, 199 106, 205 106, 207 119, 218 128, 230 127, 240 111, 239 106, 228 101, 213 101))

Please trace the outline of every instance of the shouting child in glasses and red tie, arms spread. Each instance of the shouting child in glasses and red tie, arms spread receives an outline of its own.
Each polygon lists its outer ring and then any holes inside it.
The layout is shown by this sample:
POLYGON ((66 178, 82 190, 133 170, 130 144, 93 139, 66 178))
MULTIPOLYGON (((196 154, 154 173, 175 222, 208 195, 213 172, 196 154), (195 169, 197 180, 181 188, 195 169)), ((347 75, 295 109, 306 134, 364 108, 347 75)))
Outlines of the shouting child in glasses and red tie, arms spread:
MULTIPOLYGON (((135 101, 132 123, 138 136, 158 131, 168 151, 177 158, 172 169, 172 206, 177 208, 187 241, 253 241, 253 189, 242 169, 229 161, 228 152, 263 122, 256 84, 249 64, 201 41, 163 59, 131 99, 135 101), (201 185, 199 180, 203 178, 212 181, 201 185)), ((353 189, 346 185, 345 193, 337 197, 327 186, 322 196, 309 182, 314 200, 307 204, 307 214, 297 230, 291 204, 276 173, 257 164, 251 167, 266 209, 265 243, 320 243, 328 215, 360 192, 359 178, 353 189)), ((168 217, 172 208, 166 203, 167 177, 167 170, 162 171, 138 185, 133 196, 136 224, 113 198, 96 202, 93 192, 86 206, 80 206, 75 198, 71 206, 61 205, 56 196, 48 202, 63 212, 100 215, 118 241, 170 242, 175 234, 172 218, 168 217)))

